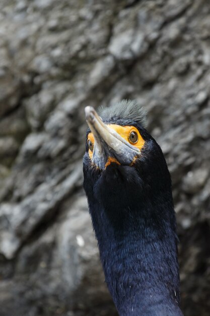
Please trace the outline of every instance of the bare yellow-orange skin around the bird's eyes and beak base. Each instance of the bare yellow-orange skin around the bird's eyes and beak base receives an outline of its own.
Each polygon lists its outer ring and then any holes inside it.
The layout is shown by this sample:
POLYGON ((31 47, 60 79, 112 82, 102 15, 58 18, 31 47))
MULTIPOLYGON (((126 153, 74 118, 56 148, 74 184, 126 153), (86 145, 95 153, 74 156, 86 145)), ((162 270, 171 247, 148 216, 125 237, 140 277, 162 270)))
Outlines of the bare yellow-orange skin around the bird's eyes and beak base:
MULTIPOLYGON (((114 124, 110 124, 108 125, 109 128, 113 129, 115 132, 117 132, 122 138, 124 138, 127 142, 129 142, 132 146, 137 147, 139 150, 142 149, 142 147, 145 144, 145 140, 143 139, 143 137, 141 136, 141 134, 138 132, 137 128, 134 126, 120 126, 120 125, 114 125, 114 124), (133 143, 130 141, 129 137, 130 134, 132 132, 137 133, 138 139, 136 143, 133 143)), ((94 145, 95 139, 93 136, 93 133, 89 133, 88 134, 88 141, 91 141, 94 145)), ((89 149, 89 157, 92 160, 93 157, 93 151, 91 151, 89 149)), ((135 159, 134 159, 135 160, 135 159)), ((134 161, 133 161, 134 162, 134 161)), ((111 163, 116 163, 118 165, 120 165, 120 163, 113 157, 108 157, 108 161, 106 163, 106 166, 109 166, 111 163)), ((132 165, 132 164, 131 164, 132 165)))

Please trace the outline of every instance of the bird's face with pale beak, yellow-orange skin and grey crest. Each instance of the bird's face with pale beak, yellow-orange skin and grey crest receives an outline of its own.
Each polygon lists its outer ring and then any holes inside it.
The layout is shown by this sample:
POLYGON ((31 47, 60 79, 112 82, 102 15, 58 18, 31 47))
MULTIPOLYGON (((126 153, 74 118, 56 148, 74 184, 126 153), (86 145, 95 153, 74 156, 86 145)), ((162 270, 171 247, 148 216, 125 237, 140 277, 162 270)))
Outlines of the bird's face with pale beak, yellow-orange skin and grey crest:
POLYGON ((99 115, 86 107, 86 152, 90 164, 105 171, 110 164, 135 166, 153 138, 145 130, 145 112, 135 101, 122 100, 99 115))

